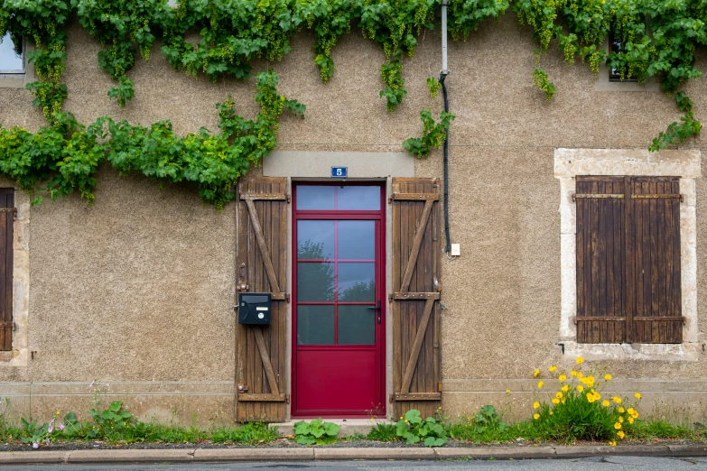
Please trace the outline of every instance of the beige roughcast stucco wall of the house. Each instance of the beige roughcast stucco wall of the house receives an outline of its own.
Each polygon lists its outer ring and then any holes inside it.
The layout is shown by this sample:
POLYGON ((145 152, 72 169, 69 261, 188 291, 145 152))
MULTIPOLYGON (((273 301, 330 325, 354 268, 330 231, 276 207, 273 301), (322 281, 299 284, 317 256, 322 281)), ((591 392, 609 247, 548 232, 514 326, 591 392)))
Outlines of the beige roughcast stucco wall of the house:
MULTIPOLYGON (((312 62, 312 36, 294 38, 293 51, 273 67, 280 91, 307 105, 306 118, 284 115, 279 151, 401 152, 420 133, 419 110, 439 110, 425 78, 440 68, 437 32, 420 38, 405 60, 408 95, 393 114, 378 97, 383 52, 358 32, 333 51, 329 84, 312 62)), ((256 114, 255 81, 189 78, 159 54, 138 60, 129 77, 135 99, 120 109, 107 98, 113 82, 98 68, 98 42, 70 31, 65 109, 80 121, 113 115, 133 123, 171 119, 183 134, 217 128, 214 104, 228 94, 237 110, 256 114)), ((442 376, 444 407, 452 416, 483 403, 508 401, 514 411, 535 383, 531 372, 569 367, 555 343, 560 327, 560 183, 554 149, 641 148, 679 118, 660 92, 597 91, 591 71, 564 65, 562 54, 541 65, 557 87, 552 102, 532 84, 531 32, 507 14, 467 42, 450 44, 450 222, 461 256, 443 259, 442 376)), ((700 51, 698 68, 707 68, 700 51)), ((696 115, 707 110, 707 82, 688 93, 696 115)), ((441 94, 440 94, 441 95, 441 94)), ((43 124, 24 90, 0 88, 0 123, 36 129, 43 124)), ((702 148, 704 138, 685 148, 702 148)), ((410 157, 413 159, 413 157, 410 157)), ((442 175, 442 154, 414 162, 420 177, 442 175)), ((258 170, 252 174, 258 174, 258 170)), ((698 318, 707 328, 707 182, 697 180, 698 318)), ((28 335, 34 359, 0 363, 0 396, 18 410, 86 411, 98 380, 144 417, 190 422, 233 417, 235 205, 203 207, 191 187, 160 191, 141 177, 98 174, 96 204, 76 197, 32 208, 28 335), (31 383, 31 385, 30 385, 31 383)), ((700 337, 702 339, 702 336, 700 337)), ((707 356, 696 361, 607 361, 619 389, 646 392, 645 409, 671 403, 680 414, 707 410, 707 356), (691 391, 685 393, 685 391, 691 391), (686 405, 685 405, 686 402, 686 405), (686 409, 685 409, 686 410, 686 409)), ((661 410, 662 411, 662 410, 661 410)))

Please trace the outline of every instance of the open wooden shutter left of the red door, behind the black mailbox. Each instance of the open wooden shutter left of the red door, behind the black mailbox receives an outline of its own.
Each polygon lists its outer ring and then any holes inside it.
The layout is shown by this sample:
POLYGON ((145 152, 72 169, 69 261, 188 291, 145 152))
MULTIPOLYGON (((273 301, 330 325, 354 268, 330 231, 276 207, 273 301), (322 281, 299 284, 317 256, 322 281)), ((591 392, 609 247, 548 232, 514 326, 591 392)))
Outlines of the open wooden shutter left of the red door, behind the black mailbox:
POLYGON ((269 292, 271 324, 237 324, 238 421, 284 421, 287 267, 287 180, 257 178, 239 185, 237 291, 269 292))

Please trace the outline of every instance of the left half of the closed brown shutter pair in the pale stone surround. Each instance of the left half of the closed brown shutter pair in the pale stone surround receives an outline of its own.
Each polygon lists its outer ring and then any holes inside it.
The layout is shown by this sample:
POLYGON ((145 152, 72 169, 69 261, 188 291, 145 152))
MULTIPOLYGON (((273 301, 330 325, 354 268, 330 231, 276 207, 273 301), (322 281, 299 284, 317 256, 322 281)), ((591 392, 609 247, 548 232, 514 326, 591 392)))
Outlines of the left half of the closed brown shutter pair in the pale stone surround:
POLYGON ((577 342, 622 342, 624 178, 577 177, 577 342), (581 198, 582 196, 591 198, 581 198))

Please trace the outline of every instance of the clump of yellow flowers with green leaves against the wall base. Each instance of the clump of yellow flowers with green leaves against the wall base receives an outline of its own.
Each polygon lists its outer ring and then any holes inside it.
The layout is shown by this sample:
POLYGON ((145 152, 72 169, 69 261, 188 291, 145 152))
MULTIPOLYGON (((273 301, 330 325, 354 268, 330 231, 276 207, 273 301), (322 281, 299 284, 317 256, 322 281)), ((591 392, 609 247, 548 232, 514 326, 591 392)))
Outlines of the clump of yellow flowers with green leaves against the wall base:
MULTIPOLYGON (((592 367, 582 371, 583 363, 583 358, 577 358, 577 365, 569 375, 550 367, 550 373, 560 382, 559 387, 549 402, 533 403, 534 426, 552 439, 609 440, 609 445, 615 446, 638 418, 636 405, 618 395, 602 394, 611 374, 598 374, 592 367)), ((537 371, 534 377, 538 377, 537 371)), ((538 391, 543 386, 542 381, 538 383, 538 391)), ((640 392, 634 394, 634 399, 641 399, 640 392)))

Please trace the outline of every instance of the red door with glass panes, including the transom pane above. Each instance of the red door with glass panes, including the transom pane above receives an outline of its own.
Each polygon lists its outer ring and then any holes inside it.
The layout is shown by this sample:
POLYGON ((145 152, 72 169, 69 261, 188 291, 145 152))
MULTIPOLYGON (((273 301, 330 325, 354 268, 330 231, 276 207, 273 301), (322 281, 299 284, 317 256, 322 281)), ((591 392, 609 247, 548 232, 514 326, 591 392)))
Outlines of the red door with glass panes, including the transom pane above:
POLYGON ((293 189, 295 417, 385 415, 383 187, 293 189))

